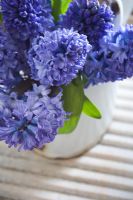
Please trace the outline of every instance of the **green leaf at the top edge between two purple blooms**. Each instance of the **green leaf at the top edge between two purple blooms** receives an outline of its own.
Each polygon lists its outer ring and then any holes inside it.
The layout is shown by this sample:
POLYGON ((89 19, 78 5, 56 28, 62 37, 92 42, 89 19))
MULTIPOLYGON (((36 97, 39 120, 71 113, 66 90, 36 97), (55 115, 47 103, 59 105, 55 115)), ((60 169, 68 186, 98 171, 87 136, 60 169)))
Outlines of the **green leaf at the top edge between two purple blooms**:
POLYGON ((55 21, 58 21, 59 15, 64 14, 72 0, 52 0, 52 14, 55 21))

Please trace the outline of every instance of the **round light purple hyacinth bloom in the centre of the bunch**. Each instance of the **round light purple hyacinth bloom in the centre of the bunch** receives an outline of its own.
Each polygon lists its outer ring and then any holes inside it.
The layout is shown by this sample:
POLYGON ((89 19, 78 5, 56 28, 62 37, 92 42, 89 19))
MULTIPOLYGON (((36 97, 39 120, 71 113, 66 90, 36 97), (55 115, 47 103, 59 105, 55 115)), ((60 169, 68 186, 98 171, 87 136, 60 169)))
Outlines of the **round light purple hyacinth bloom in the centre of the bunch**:
POLYGON ((44 85, 69 84, 83 69, 90 51, 85 35, 58 29, 34 39, 28 54, 32 77, 44 85))

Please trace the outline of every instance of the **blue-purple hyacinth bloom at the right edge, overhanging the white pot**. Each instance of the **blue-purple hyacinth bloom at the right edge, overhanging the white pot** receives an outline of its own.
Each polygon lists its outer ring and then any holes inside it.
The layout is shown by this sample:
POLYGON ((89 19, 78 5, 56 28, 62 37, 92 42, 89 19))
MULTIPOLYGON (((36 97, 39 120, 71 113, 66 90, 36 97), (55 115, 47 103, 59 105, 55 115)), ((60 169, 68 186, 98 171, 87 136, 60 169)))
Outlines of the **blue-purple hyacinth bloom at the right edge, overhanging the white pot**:
POLYGON ((88 54, 84 68, 88 84, 113 82, 133 76, 133 25, 104 36, 100 48, 100 51, 88 54))

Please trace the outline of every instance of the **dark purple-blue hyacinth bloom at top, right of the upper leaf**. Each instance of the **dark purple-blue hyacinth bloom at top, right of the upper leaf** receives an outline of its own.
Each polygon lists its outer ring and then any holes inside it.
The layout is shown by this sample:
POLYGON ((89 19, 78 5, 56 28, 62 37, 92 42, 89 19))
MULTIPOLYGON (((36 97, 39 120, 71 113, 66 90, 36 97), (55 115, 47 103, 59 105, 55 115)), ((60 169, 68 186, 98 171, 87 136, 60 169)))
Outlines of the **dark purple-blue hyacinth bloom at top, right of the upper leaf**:
POLYGON ((66 14, 60 16, 61 27, 74 28, 87 35, 90 44, 98 47, 101 37, 113 28, 114 15, 111 9, 98 0, 73 0, 66 14))

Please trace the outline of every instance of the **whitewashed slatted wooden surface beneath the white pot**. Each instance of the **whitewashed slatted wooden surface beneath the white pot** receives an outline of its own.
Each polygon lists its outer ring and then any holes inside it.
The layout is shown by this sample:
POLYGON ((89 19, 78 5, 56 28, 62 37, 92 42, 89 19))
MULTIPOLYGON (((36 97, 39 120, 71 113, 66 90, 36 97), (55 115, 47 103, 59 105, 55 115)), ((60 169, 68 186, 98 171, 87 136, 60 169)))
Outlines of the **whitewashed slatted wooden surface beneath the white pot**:
POLYGON ((132 91, 132 80, 120 83, 110 127, 79 158, 50 160, 1 143, 0 200, 133 200, 132 91))

